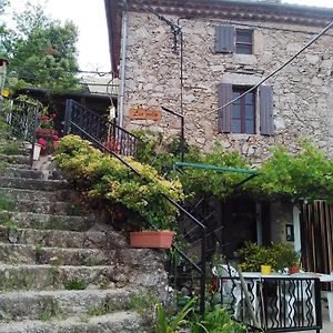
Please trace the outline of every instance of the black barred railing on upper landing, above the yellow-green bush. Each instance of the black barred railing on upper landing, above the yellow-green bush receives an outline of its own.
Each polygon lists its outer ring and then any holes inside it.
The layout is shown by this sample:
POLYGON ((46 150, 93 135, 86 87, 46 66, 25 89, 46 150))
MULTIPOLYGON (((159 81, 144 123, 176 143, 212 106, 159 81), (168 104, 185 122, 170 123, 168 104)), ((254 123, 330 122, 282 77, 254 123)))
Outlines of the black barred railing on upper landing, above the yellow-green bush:
POLYGON ((91 111, 73 100, 67 100, 64 134, 83 135, 89 133, 91 138, 100 142, 105 149, 121 155, 135 155, 138 139, 132 133, 120 128, 114 121, 91 111), (82 131, 83 130, 83 131, 82 131))

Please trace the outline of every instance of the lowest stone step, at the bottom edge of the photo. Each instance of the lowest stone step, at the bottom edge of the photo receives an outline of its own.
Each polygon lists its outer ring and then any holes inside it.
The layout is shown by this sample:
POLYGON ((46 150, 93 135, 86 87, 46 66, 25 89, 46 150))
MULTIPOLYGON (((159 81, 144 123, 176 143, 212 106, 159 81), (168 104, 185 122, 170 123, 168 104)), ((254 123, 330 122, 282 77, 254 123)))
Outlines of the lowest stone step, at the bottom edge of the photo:
POLYGON ((117 311, 111 314, 70 317, 64 321, 23 321, 2 324, 1 333, 145 333, 142 317, 132 311, 117 311))

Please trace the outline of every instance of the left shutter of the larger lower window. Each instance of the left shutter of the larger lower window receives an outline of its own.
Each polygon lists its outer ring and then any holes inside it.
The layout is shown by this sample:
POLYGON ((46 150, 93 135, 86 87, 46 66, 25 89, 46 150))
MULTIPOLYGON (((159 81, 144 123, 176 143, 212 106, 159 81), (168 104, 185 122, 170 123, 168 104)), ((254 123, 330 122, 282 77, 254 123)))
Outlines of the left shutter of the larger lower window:
POLYGON ((232 104, 220 109, 232 100, 232 84, 220 83, 219 91, 219 132, 230 133, 232 131, 232 104))

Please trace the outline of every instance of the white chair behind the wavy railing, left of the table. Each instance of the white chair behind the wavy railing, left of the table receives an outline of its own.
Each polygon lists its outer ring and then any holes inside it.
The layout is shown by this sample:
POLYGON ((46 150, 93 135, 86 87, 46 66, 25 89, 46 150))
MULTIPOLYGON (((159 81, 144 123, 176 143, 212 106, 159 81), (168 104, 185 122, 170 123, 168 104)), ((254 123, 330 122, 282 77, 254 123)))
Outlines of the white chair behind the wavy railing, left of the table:
MULTIPOLYGON (((219 291, 225 301, 232 305, 233 315, 236 319, 241 319, 242 304, 245 302, 245 294, 239 279, 223 279, 223 278, 239 278, 238 271, 226 264, 218 264, 213 266, 212 273, 219 278, 219 291)), ((258 297, 256 297, 256 282, 246 283, 248 291, 250 292, 250 300, 254 313, 258 310, 258 297)))

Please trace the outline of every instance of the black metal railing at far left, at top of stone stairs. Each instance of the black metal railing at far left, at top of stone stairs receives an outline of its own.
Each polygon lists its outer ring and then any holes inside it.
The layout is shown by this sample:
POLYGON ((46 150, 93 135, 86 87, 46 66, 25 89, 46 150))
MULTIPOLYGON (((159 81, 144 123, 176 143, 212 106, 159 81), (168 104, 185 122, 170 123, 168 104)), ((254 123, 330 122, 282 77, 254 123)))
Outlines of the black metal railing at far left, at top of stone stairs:
POLYGON ((31 143, 30 164, 33 162, 36 131, 39 124, 39 107, 19 100, 6 100, 2 118, 9 124, 10 137, 31 143))

